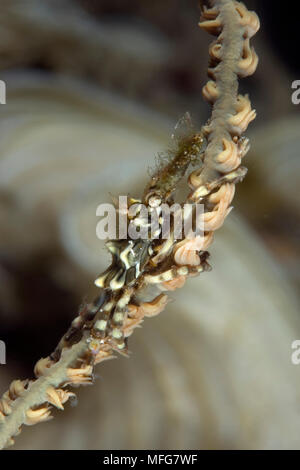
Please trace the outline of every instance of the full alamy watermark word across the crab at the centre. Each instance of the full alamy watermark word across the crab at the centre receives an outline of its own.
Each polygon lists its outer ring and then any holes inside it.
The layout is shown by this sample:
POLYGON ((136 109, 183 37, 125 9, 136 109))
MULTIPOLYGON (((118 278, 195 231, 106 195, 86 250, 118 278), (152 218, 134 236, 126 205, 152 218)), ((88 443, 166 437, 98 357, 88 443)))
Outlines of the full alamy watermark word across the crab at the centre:
POLYGON ((113 204, 100 204, 96 215, 96 234, 100 240, 116 239, 192 239, 204 232, 203 204, 162 203, 160 199, 146 206, 140 201, 128 204, 127 196, 119 196, 118 208, 113 204))

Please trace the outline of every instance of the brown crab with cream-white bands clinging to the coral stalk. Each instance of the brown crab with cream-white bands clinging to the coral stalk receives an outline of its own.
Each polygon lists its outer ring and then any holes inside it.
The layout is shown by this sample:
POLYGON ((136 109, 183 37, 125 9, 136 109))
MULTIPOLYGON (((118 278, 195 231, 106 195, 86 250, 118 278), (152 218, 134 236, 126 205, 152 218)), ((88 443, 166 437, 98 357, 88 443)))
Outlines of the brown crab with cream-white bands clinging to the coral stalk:
MULTIPOLYGON (((119 352, 126 351, 123 326, 128 312, 128 304, 134 297, 135 287, 142 283, 142 274, 147 275, 147 266, 152 269, 157 266, 157 273, 152 276, 153 283, 170 281, 178 276, 178 270, 166 265, 158 266, 161 260, 172 251, 174 239, 172 235, 167 240, 161 239, 164 220, 159 217, 162 203, 171 204, 178 182, 186 173, 190 163, 199 159, 204 139, 201 133, 190 133, 184 138, 177 139, 177 150, 164 171, 157 171, 148 184, 143 200, 130 199, 129 204, 142 204, 147 207, 148 217, 140 218, 139 212, 135 218, 136 225, 149 227, 151 214, 157 212, 158 227, 155 237, 138 238, 137 240, 110 240, 106 247, 112 255, 112 263, 96 280, 95 285, 105 296, 99 307, 96 302, 92 306, 95 311, 95 321, 91 330, 95 339, 109 336, 113 347, 119 352)), ((129 216, 128 216, 129 218, 129 216)), ((132 219, 131 219, 132 221, 132 219)), ((172 225, 173 221, 171 221, 172 225)), ((179 270, 184 269, 183 267, 179 270)), ((100 296, 101 297, 101 296, 100 296)))

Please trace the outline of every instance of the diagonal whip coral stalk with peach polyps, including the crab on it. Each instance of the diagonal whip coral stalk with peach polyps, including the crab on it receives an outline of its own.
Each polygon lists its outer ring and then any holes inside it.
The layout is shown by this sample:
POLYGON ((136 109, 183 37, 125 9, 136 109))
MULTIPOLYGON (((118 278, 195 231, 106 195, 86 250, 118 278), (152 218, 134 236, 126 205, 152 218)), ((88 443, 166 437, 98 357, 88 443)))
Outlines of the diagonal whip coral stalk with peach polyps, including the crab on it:
POLYGON ((206 250, 231 210, 235 184, 246 174, 241 160, 249 142, 243 133, 255 111, 248 96, 238 94, 238 77, 251 75, 257 66, 249 40, 259 20, 242 3, 216 0, 210 8, 203 7, 200 27, 216 36, 209 48, 210 80, 203 88, 212 105, 211 118, 200 132, 181 139, 139 202, 149 213, 162 202, 171 203, 178 181, 190 164, 197 164, 188 178, 191 192, 186 202, 204 205, 204 236, 178 241, 171 231, 167 240, 107 243, 112 264, 95 281, 99 296, 81 307, 55 351, 36 364, 35 379, 15 380, 3 395, 0 448, 13 444, 23 424, 47 421, 53 407, 62 410, 75 396, 70 386, 93 382, 96 364, 113 358, 115 352, 127 355, 127 338, 133 330, 168 303, 162 291, 182 287, 188 277, 210 268, 206 250), (149 286, 156 286, 157 295, 145 301, 149 286))

